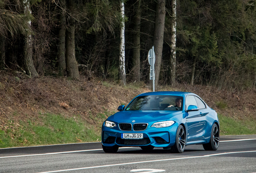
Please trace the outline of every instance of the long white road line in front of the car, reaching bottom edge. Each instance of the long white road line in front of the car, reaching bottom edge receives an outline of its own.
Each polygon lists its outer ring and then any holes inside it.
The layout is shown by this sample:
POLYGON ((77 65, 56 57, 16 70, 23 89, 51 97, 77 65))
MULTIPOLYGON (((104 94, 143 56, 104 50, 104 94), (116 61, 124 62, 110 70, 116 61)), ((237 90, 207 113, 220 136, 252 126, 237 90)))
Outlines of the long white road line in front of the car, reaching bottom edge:
POLYGON ((111 167, 111 166, 120 166, 120 165, 128 165, 128 164, 138 164, 138 163, 149 163, 149 162, 157 162, 157 161, 170 161, 170 160, 180 160, 180 159, 194 159, 194 158, 200 158, 200 157, 210 157, 210 156, 226 155, 226 154, 233 154, 233 153, 252 153, 252 152, 256 152, 256 151, 239 151, 239 152, 218 153, 218 154, 204 155, 204 156, 181 157, 181 158, 161 159, 161 160, 151 160, 151 161, 139 161, 139 162, 120 163, 120 164, 113 164, 113 165, 100 165, 100 166, 93 166, 93 167, 63 169, 63 170, 47 171, 47 172, 40 172, 40 173, 54 173, 54 172, 62 172, 62 171, 76 171, 76 170, 81 170, 81 169, 92 169, 92 168, 100 168, 100 167, 111 167))

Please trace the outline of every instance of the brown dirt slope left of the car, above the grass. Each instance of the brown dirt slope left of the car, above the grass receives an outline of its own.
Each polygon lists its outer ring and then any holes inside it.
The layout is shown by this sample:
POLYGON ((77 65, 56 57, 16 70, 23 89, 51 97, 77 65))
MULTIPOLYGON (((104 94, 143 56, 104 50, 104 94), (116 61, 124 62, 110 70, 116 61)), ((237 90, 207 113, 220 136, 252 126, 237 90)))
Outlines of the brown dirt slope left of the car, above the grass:
POLYGON ((22 76, 0 76, 0 120, 18 122, 36 121, 39 113, 62 114, 65 117, 79 114, 94 123, 88 114, 95 116, 105 111, 116 111, 118 105, 128 104, 147 87, 120 87, 113 82, 100 80, 69 80, 52 76, 22 79, 22 76))

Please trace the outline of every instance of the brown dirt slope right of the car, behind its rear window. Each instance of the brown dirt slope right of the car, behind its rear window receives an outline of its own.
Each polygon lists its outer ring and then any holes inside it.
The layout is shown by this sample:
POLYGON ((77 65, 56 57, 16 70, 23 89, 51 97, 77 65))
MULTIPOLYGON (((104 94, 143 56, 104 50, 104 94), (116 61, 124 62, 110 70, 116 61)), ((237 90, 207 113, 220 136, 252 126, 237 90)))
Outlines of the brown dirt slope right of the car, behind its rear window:
POLYGON ((226 117, 256 119, 256 90, 219 90, 211 86, 185 85, 185 91, 199 95, 209 107, 226 117))

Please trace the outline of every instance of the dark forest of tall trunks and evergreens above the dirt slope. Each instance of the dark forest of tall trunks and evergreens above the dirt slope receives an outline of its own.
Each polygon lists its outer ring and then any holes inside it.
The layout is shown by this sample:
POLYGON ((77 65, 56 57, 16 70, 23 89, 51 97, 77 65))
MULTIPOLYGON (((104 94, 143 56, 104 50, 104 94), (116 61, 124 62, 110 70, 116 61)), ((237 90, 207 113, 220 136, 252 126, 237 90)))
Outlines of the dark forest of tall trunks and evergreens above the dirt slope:
POLYGON ((256 0, 0 0, 0 75, 256 85, 256 0), (122 30, 124 34, 122 34, 122 30))

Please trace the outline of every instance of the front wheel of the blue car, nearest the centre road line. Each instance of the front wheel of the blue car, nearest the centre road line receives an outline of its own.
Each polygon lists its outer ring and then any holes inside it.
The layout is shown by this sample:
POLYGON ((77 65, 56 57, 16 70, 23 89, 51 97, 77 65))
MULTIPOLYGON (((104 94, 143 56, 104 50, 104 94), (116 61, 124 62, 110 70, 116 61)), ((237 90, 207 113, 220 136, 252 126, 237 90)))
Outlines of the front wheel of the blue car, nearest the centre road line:
POLYGON ((176 132, 175 144, 171 147, 171 153, 183 153, 186 145, 186 132, 182 125, 180 125, 176 132))

